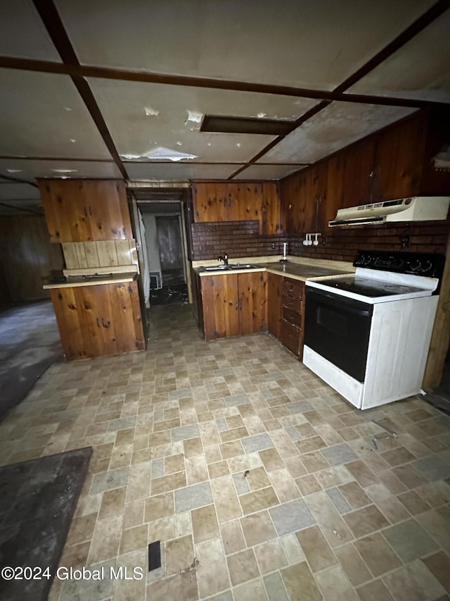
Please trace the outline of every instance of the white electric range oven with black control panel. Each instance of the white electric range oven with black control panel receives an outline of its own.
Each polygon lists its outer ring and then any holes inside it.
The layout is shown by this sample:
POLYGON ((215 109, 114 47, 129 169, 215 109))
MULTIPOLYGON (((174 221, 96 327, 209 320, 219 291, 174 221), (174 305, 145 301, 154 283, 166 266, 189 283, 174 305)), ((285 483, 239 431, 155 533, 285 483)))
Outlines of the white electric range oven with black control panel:
POLYGON ((359 409, 418 394, 444 262, 359 251, 354 275, 307 280, 304 365, 359 409))

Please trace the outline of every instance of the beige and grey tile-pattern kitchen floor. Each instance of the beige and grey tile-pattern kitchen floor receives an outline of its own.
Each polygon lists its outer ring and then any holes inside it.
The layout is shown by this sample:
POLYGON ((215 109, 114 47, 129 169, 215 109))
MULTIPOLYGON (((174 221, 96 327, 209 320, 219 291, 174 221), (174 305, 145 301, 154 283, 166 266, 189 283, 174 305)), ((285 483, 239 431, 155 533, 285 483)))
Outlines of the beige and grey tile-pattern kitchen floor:
POLYGON ((94 447, 61 565, 143 568, 51 601, 450 600, 448 417, 357 411, 269 336, 151 316, 148 351, 55 364, 0 424, 1 464, 94 447))

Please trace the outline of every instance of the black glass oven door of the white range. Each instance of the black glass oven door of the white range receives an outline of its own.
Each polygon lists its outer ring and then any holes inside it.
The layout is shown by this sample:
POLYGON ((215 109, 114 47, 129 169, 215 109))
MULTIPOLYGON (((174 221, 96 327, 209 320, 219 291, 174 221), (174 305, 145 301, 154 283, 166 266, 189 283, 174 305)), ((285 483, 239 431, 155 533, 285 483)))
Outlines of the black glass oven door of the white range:
POLYGON ((373 304, 306 286, 304 343, 364 382, 373 304))

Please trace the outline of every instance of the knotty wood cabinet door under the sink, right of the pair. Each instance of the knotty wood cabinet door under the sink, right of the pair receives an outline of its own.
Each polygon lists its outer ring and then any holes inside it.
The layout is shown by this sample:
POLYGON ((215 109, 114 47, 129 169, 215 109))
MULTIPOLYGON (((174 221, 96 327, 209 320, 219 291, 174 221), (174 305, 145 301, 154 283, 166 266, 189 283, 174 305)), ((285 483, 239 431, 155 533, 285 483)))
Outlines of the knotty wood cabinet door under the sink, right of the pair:
POLYGON ((267 329, 266 275, 264 271, 238 274, 240 335, 267 329))

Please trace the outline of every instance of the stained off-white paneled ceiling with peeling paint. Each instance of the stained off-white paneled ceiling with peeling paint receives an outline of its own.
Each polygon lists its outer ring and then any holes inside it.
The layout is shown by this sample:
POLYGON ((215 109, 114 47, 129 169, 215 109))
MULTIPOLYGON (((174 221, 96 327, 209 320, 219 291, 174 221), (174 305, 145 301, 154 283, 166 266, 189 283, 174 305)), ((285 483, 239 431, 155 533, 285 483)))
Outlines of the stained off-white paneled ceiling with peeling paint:
POLYGON ((36 198, 43 177, 277 180, 418 110, 408 101, 449 104, 450 8, 344 90, 367 100, 336 97, 268 151, 271 135, 200 132, 205 114, 301 120, 435 1, 53 0, 56 33, 33 0, 4 2, 0 202, 36 198), (58 54, 64 32, 94 104, 58 54))

